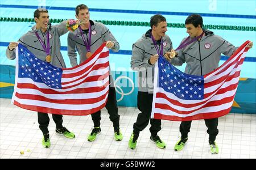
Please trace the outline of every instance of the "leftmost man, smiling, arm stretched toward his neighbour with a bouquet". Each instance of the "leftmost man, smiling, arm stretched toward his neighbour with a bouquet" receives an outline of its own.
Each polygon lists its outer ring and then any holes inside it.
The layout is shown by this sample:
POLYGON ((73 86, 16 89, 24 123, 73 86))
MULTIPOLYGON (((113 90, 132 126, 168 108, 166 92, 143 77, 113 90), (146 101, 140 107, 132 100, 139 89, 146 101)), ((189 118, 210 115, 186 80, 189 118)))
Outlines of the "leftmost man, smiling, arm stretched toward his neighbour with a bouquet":
MULTIPOLYGON (((66 28, 67 20, 60 24, 52 25, 49 23, 48 11, 45 8, 39 8, 34 12, 36 25, 30 31, 24 34, 18 42, 10 42, 6 49, 6 56, 9 59, 15 59, 15 48, 18 43, 26 46, 30 52, 43 61, 51 65, 65 68, 63 56, 60 53, 60 36, 68 32, 66 28)), ((52 114, 53 121, 56 124, 56 133, 62 134, 67 138, 75 138, 75 134, 63 127, 63 116, 61 114, 52 114)), ((42 145, 49 147, 49 116, 47 113, 38 112, 39 128, 43 132, 42 145)))

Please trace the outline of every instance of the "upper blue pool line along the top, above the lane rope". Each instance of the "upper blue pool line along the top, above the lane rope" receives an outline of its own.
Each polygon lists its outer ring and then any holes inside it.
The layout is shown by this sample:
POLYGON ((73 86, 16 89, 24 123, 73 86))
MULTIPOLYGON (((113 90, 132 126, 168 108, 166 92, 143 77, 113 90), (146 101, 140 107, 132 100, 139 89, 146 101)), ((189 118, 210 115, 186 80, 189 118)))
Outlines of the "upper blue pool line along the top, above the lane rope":
MULTIPOLYGON (((2 8, 32 8, 36 9, 38 6, 30 6, 30 5, 0 5, 2 8)), ((67 11, 75 11, 75 7, 55 7, 55 6, 46 6, 49 10, 67 10, 67 11)), ((191 15, 191 12, 167 12, 167 11, 141 11, 141 10, 115 10, 115 9, 102 9, 102 8, 90 8, 90 11, 94 12, 118 12, 118 13, 129 13, 129 14, 162 14, 162 15, 191 15)), ((208 13, 198 13, 201 16, 209 16, 209 17, 221 17, 221 18, 248 18, 248 19, 256 19, 255 15, 233 15, 233 14, 208 14, 208 13)))

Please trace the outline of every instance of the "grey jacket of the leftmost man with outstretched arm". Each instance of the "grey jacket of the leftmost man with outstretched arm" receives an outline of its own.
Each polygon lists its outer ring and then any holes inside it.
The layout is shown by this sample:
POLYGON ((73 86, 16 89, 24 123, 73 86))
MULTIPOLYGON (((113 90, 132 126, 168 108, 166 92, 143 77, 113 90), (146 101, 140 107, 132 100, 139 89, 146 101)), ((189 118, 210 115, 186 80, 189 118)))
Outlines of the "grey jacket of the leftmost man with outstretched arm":
MULTIPOLYGON (((60 53, 60 36, 64 35, 68 32, 68 29, 66 29, 66 23, 67 21, 63 21, 60 24, 55 24, 51 26, 51 29, 49 31, 49 46, 50 46, 50 55, 51 55, 51 64, 53 66, 59 67, 59 68, 65 68, 65 62, 63 59, 62 54, 60 53)), ((49 29, 49 27, 48 27, 49 29)), ((48 31, 47 29, 47 31, 48 31)), ((32 27, 30 31, 28 31, 26 34, 24 34, 18 42, 24 46, 28 50, 30 50, 36 57, 39 59, 45 61, 46 60, 46 52, 44 52, 44 49, 42 45, 40 44, 38 37, 35 35, 36 27, 32 27)), ((37 30, 39 36, 44 41, 44 44, 47 45, 47 33, 43 33, 40 31, 40 29, 37 30)), ((6 56, 9 59, 15 58, 15 49, 9 50, 7 47, 6 49, 6 56)))

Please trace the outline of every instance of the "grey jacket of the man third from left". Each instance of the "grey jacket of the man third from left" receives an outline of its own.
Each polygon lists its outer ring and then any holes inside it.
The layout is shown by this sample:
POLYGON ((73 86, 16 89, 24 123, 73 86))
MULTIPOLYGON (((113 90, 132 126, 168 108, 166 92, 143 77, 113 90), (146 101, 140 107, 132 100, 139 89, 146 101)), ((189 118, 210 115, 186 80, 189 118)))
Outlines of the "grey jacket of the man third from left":
MULTIPOLYGON (((154 68, 155 65, 150 65, 148 60, 151 56, 157 54, 154 43, 151 39, 152 30, 148 30, 142 35, 141 39, 133 44, 131 56, 131 69, 139 71, 138 83, 139 91, 153 92, 154 90, 154 68)), ((172 41, 169 36, 165 35, 163 39, 163 55, 172 49, 172 41)), ((156 42, 156 46, 160 49, 160 43, 156 42)))

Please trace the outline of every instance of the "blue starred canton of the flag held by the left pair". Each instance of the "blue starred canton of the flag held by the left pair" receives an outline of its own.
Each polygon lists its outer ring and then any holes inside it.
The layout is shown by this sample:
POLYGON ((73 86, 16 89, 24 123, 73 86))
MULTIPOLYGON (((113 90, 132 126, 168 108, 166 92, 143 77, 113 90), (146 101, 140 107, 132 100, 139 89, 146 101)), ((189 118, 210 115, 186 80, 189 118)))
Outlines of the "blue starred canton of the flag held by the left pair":
POLYGON ((51 88, 61 88, 62 69, 35 57, 25 46, 19 44, 19 78, 31 78, 51 88))

